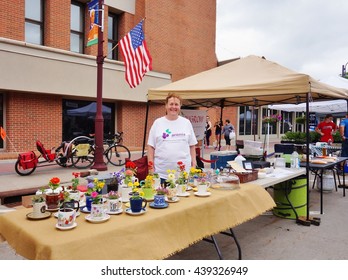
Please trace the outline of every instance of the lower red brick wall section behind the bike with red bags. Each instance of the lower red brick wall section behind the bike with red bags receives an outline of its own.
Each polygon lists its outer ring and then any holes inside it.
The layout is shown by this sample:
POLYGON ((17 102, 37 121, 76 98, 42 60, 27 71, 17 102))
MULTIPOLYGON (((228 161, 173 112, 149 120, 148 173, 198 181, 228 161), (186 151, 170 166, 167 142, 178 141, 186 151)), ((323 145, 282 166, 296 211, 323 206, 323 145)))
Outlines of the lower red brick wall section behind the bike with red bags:
POLYGON ((6 96, 8 151, 36 151, 40 140, 47 149, 62 139, 62 100, 38 94, 10 93, 6 96))

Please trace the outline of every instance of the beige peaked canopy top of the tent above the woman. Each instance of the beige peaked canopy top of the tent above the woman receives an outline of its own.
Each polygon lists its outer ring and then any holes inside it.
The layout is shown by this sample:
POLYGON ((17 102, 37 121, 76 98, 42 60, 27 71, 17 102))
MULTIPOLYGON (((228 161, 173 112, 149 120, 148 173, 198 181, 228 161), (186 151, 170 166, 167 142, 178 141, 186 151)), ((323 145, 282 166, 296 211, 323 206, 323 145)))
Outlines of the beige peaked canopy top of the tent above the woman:
POLYGON ((347 99, 339 89, 258 56, 248 56, 168 85, 148 90, 149 101, 176 93, 188 107, 262 106, 274 103, 347 99))

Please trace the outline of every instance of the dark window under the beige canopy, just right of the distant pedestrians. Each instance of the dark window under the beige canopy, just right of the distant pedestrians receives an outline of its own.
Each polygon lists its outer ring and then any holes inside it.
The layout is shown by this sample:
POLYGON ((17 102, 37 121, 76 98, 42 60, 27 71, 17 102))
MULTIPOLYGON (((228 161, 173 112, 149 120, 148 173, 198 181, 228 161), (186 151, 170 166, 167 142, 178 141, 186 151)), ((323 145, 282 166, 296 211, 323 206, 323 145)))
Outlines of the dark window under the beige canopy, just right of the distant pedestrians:
POLYGON ((239 107, 239 135, 256 135, 258 130, 258 109, 239 107))

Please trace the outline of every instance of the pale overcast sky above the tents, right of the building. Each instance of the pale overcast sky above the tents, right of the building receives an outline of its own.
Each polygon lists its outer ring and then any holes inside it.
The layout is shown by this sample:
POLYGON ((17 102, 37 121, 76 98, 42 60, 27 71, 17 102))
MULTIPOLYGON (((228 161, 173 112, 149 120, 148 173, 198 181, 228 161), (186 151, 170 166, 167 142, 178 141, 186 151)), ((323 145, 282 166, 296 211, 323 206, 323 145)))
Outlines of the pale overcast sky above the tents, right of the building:
POLYGON ((348 0, 217 0, 216 36, 219 61, 265 56, 315 79, 337 76, 348 62, 348 0))

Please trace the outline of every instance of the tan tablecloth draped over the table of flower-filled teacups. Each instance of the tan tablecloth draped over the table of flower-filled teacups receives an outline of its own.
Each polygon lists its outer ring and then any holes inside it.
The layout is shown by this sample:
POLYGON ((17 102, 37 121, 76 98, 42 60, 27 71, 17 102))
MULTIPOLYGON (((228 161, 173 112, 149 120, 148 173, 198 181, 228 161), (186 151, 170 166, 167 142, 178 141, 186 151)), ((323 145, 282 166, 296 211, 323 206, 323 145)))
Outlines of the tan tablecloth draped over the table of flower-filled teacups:
POLYGON ((20 209, 0 216, 0 235, 28 259, 163 259, 275 206, 267 191, 251 183, 238 190, 211 190, 209 197, 190 193, 168 208, 111 215, 100 224, 86 221, 82 213, 77 227, 68 231, 56 229, 53 215, 32 221, 26 218, 32 209, 20 209))

